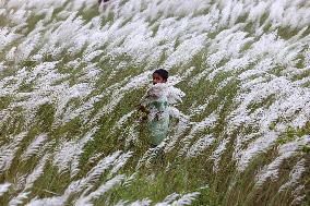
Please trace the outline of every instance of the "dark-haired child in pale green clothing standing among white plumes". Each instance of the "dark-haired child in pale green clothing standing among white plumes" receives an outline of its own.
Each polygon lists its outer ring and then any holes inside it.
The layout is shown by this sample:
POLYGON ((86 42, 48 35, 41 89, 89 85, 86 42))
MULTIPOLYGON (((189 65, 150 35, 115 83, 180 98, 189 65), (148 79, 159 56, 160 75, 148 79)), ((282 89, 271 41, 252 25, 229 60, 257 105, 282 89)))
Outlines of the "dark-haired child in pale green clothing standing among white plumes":
POLYGON ((144 113, 143 121, 147 122, 151 147, 158 146, 168 134, 169 111, 167 99, 168 71, 156 70, 153 73, 153 86, 146 92, 139 106, 144 113))

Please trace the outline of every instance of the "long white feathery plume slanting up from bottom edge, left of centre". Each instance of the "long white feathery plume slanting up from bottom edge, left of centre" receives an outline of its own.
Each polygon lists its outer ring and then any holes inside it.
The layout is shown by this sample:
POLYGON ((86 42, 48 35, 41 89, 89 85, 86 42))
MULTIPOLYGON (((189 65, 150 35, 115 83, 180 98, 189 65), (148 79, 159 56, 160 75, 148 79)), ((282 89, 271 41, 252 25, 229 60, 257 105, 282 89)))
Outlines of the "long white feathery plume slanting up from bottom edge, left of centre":
POLYGON ((111 190, 114 186, 121 183, 124 179, 124 175, 116 175, 115 178, 108 180, 103 185, 100 185, 96 191, 92 192, 87 196, 81 196, 76 202, 75 206, 92 206, 92 201, 103 196, 106 192, 111 190))

